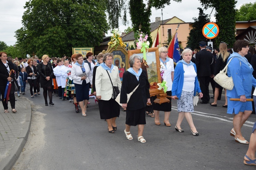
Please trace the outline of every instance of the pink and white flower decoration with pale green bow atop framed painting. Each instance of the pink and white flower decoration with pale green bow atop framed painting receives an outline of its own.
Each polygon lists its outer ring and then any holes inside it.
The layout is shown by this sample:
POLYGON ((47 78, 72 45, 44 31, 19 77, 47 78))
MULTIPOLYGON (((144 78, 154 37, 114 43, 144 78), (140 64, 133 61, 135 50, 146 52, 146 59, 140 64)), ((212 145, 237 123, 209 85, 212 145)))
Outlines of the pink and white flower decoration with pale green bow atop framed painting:
POLYGON ((140 32, 137 30, 137 32, 135 33, 137 39, 135 39, 136 45, 137 45, 137 49, 141 49, 141 52, 143 52, 143 58, 144 60, 147 60, 146 58, 146 49, 148 51, 150 42, 147 41, 147 34, 144 34, 143 32, 140 32))

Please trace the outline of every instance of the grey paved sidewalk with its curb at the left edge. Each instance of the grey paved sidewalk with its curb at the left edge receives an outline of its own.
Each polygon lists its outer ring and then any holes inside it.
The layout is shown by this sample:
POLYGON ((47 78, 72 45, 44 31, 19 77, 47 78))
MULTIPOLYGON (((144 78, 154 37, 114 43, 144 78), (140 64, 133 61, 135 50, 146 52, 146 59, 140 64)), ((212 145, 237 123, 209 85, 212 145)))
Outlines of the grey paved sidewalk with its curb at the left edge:
POLYGON ((31 124, 31 104, 24 97, 15 94, 15 109, 12 113, 8 102, 9 113, 4 113, 0 103, 0 170, 9 170, 18 159, 28 139, 31 124))

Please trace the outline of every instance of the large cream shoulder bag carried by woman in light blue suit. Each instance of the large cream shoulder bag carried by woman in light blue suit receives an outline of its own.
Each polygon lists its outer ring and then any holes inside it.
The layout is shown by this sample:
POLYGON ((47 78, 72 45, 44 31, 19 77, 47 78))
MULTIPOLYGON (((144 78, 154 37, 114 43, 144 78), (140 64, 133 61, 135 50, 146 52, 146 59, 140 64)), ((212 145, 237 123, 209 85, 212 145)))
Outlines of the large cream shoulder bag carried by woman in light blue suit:
MULTIPOLYGON (((231 60, 234 57, 232 57, 228 64, 231 62, 231 60)), ((237 57, 238 58, 238 57, 237 57)), ((239 59, 239 58, 238 58, 239 59)), ((239 60, 240 61, 240 60, 239 60)), ((227 76, 227 69, 228 69, 228 64, 224 67, 223 70, 221 70, 215 77, 214 77, 214 81, 216 83, 218 83, 220 86, 222 86, 223 88, 227 89, 227 90, 232 90, 234 88, 234 83, 233 83, 233 79, 232 77, 228 77, 227 76)), ((241 66, 241 62, 240 62, 240 66, 241 66)))

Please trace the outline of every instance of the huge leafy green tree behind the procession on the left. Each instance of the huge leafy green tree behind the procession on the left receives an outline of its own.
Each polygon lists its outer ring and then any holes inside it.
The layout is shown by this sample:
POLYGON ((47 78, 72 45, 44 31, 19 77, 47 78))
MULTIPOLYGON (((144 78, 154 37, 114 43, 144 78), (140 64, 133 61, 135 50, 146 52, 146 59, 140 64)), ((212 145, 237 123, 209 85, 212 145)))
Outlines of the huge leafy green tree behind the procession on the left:
POLYGON ((25 8, 15 37, 29 54, 71 56, 72 47, 98 46, 109 29, 105 1, 30 0, 25 8))

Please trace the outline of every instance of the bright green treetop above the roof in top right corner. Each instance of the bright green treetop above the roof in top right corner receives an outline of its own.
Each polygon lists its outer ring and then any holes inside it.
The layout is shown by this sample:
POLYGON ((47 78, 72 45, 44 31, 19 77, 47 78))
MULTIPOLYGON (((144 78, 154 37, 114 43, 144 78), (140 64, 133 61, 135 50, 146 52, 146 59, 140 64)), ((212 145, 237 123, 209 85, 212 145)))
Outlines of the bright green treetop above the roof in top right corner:
POLYGON ((256 20, 256 2, 245 3, 236 12, 236 21, 256 20))

